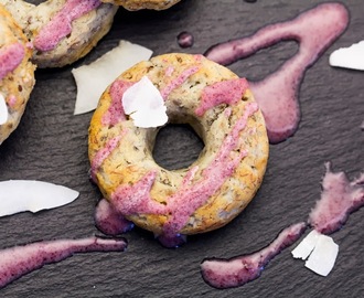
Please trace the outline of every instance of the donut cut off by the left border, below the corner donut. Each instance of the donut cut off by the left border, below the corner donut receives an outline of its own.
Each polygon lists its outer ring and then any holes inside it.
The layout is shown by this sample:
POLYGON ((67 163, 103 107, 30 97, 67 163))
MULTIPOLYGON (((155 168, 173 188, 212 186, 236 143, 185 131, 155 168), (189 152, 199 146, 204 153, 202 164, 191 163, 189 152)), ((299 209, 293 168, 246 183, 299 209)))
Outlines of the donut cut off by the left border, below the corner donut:
POLYGON ((18 127, 35 84, 32 50, 11 14, 0 4, 0 145, 18 127))

